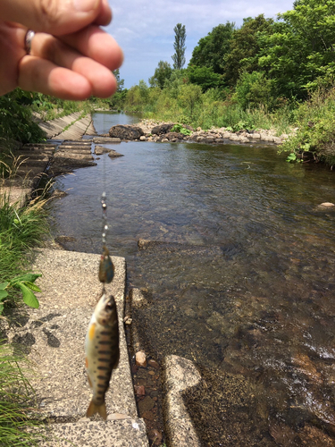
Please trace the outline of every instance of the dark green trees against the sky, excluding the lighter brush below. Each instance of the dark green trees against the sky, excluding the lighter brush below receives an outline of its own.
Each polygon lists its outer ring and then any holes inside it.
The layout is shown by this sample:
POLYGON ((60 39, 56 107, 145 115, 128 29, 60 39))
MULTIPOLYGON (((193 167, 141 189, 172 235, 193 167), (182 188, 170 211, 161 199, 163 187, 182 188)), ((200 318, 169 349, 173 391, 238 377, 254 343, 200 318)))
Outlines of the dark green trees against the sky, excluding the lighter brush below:
POLYGON ((219 24, 200 38, 185 69, 185 27, 179 23, 174 31, 173 68, 160 61, 148 80, 151 88, 164 89, 178 71, 184 83, 199 86, 202 93, 218 89, 222 98, 235 93, 244 108, 274 108, 283 101, 306 100, 320 85, 333 84, 334 0, 297 0, 277 20, 260 14, 244 19, 240 28, 230 21, 219 24))

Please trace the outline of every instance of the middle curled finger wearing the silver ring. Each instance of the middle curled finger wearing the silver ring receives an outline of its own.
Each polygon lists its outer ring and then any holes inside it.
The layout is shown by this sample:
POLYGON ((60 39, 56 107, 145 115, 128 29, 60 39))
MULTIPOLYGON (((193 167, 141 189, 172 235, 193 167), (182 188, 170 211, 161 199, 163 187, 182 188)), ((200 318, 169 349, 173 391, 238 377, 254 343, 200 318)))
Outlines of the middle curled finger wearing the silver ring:
POLYGON ((30 54, 81 74, 91 84, 92 95, 96 97, 110 97, 117 89, 113 73, 104 65, 81 55, 71 46, 48 34, 36 34, 30 54))

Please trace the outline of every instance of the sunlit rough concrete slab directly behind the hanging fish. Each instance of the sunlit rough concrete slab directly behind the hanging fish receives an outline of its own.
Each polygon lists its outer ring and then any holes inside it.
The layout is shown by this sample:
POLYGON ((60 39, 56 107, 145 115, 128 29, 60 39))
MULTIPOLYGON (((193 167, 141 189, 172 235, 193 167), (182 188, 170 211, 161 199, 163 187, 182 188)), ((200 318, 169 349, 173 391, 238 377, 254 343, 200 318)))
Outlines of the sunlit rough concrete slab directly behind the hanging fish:
MULTIPOLYGON (((113 257, 113 263, 116 272, 107 292, 113 293, 118 307, 121 358, 106 394, 107 412, 137 417, 123 333, 125 261, 113 257)), ((38 364, 39 370, 38 380, 33 380, 32 385, 40 409, 57 420, 78 420, 85 416, 90 401, 84 369, 84 342, 89 319, 102 290, 97 279, 98 264, 99 255, 42 250, 34 265, 34 269, 43 272, 38 284, 43 293, 39 297, 40 308, 29 311, 29 332, 36 339, 30 358, 38 364)))

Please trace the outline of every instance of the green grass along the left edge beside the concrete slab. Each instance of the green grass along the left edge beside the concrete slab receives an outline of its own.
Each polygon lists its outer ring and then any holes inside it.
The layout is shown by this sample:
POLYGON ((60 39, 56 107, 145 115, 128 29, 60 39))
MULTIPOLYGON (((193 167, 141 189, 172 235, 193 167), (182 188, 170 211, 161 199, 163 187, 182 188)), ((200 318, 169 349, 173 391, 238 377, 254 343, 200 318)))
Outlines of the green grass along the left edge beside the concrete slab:
MULTIPOLYGON (((22 206, 12 202, 11 189, 4 190, 4 176, 13 178, 20 161, 2 162, 0 181, 0 283, 29 271, 29 254, 48 232, 46 198, 38 197, 22 206)), ((7 179, 8 180, 8 179, 7 179)), ((21 292, 8 290, 4 311, 22 305, 21 292)), ((0 316, 3 317, 4 316, 0 316)), ((40 422, 30 418, 33 389, 26 377, 28 359, 18 348, 0 341, 0 445, 26 446, 38 443, 41 435, 34 427, 40 422)))

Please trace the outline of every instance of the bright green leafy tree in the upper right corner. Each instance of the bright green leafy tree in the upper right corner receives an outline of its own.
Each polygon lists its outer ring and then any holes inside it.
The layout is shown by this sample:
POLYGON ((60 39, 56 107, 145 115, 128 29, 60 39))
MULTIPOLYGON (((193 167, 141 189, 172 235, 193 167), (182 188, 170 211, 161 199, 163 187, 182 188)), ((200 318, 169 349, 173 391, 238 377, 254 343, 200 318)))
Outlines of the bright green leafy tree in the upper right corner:
POLYGON ((272 33, 259 36, 259 65, 277 96, 306 99, 320 79, 335 75, 335 0, 297 0, 278 19, 272 33))

